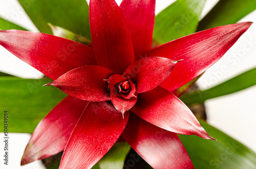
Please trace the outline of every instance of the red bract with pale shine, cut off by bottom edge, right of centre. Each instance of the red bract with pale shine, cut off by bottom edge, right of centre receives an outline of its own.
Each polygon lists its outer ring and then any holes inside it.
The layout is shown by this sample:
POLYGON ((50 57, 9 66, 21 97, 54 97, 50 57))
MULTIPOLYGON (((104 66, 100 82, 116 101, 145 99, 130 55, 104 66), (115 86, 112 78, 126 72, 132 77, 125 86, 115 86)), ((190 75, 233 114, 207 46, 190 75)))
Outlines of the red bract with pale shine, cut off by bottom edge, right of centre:
POLYGON ((122 137, 153 168, 194 168, 177 134, 131 113, 122 137))

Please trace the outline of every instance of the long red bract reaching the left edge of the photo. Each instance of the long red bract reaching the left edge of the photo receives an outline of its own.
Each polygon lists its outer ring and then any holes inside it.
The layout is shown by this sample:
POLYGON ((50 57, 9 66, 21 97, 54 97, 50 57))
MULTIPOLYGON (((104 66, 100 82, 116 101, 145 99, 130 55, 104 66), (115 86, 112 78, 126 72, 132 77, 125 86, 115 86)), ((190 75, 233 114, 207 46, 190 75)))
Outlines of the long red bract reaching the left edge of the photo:
POLYGON ((0 45, 53 80, 71 69, 97 64, 91 47, 49 34, 0 31, 0 45))

